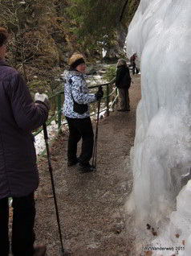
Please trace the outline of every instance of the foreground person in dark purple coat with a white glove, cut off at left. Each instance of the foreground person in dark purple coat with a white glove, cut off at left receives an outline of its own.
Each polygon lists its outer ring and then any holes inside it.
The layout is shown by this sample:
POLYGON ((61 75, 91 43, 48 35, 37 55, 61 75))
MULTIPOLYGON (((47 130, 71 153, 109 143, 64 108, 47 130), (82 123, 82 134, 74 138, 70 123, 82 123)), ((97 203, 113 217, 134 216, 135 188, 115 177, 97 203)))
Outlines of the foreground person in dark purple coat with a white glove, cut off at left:
POLYGON ((35 200, 39 173, 32 130, 43 125, 50 108, 47 95, 32 100, 22 76, 5 62, 8 33, 0 27, 0 255, 8 256, 9 197, 12 197, 12 254, 43 256, 34 246, 35 200))

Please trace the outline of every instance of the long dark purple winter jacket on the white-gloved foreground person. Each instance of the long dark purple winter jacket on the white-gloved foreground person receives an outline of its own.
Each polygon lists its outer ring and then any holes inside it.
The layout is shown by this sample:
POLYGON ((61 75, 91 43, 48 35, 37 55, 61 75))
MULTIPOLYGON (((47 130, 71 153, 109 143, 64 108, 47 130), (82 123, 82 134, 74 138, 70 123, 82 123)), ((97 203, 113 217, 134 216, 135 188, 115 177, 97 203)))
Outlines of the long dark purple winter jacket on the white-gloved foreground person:
POLYGON ((46 105, 35 104, 22 76, 0 59, 0 199, 27 196, 38 188, 31 130, 47 117, 46 105))

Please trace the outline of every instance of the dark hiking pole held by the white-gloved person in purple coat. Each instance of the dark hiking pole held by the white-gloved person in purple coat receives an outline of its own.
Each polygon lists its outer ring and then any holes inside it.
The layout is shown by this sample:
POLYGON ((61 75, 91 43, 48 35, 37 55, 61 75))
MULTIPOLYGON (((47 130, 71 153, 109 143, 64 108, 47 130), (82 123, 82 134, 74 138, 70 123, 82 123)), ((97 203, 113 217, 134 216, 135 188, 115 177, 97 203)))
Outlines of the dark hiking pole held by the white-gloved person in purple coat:
POLYGON ((56 196, 55 196, 55 183, 54 183, 54 178, 53 178, 53 174, 52 174, 51 154, 50 154, 49 145, 48 145, 48 135, 47 135, 46 123, 43 124, 43 132, 44 132, 44 140, 45 140, 46 147, 47 147, 47 159, 48 159, 48 167, 49 167, 49 171, 50 171, 50 175, 51 175, 51 186, 52 186, 52 191, 53 191, 53 196, 54 196, 54 201, 55 201, 55 213, 56 213, 57 223, 59 226, 59 239, 60 239, 60 243, 61 243, 61 255, 64 256, 65 252, 63 250, 63 237, 62 237, 60 222, 59 222, 59 210, 58 210, 57 200, 56 200, 56 196))

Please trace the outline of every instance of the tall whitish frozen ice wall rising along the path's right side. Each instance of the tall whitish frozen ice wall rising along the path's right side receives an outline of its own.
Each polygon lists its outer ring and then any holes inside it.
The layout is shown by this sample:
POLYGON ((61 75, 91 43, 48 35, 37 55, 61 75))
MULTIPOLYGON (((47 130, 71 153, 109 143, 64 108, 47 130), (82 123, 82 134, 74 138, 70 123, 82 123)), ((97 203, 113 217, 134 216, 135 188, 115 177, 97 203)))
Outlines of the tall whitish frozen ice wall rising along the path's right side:
POLYGON ((158 225, 169 217, 189 180, 190 24, 190 0, 141 0, 128 30, 127 55, 136 52, 141 70, 132 151, 132 196, 140 223, 158 225))

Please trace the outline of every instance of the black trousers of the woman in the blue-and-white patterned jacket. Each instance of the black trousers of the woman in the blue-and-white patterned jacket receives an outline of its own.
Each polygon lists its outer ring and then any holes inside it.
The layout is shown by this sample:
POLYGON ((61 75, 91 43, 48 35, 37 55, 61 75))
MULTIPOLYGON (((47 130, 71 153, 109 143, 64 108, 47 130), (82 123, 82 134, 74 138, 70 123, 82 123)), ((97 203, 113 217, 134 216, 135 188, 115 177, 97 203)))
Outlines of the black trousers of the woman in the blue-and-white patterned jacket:
POLYGON ((69 127, 69 139, 67 148, 67 159, 74 161, 77 154, 77 144, 82 138, 81 154, 79 155, 79 162, 87 163, 91 159, 94 134, 90 118, 67 118, 69 127))

